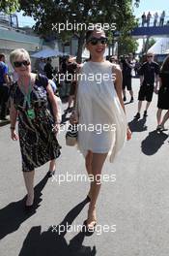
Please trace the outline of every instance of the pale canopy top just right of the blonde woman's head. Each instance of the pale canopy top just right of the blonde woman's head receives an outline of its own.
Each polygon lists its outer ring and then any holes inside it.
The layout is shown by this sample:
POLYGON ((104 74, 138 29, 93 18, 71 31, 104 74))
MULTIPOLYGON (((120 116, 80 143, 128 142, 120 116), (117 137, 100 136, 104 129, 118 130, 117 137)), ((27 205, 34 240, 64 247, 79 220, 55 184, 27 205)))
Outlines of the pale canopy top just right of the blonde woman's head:
POLYGON ((34 58, 48 58, 48 57, 58 57, 68 55, 68 53, 64 53, 62 51, 52 49, 52 48, 44 48, 39 52, 34 53, 31 57, 34 58))

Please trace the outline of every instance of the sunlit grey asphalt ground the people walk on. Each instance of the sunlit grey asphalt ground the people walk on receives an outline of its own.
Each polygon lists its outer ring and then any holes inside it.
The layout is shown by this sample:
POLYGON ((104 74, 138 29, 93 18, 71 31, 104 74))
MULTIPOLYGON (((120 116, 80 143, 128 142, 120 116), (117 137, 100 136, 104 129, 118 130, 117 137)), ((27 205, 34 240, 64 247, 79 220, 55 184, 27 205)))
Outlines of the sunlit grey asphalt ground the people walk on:
POLYGON ((169 255, 168 131, 155 131, 156 95, 148 117, 142 118, 143 108, 141 119, 133 120, 139 80, 132 86, 134 103, 126 104, 132 139, 114 164, 104 165, 103 174, 115 178, 102 182, 91 237, 78 226, 87 217, 89 181, 73 178, 86 174, 84 159, 65 144, 65 133, 58 136, 62 155, 56 176, 62 182, 47 179, 48 164, 38 168, 35 209, 25 213, 19 144, 10 139, 9 124, 0 127, 0 256, 169 255), (68 175, 73 180, 63 181, 68 175))

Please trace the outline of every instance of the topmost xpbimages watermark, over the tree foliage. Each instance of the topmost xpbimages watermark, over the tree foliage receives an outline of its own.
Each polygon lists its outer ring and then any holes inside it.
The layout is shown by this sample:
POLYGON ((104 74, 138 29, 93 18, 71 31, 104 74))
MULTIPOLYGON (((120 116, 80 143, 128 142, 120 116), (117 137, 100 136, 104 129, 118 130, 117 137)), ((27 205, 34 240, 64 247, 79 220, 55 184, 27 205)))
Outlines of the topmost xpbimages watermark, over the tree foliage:
POLYGON ((65 23, 52 23, 52 30, 57 31, 57 33, 61 33, 62 31, 82 31, 82 30, 94 30, 94 29, 102 29, 104 31, 114 31, 116 30, 116 23, 77 23, 77 22, 70 22, 66 20, 65 23))

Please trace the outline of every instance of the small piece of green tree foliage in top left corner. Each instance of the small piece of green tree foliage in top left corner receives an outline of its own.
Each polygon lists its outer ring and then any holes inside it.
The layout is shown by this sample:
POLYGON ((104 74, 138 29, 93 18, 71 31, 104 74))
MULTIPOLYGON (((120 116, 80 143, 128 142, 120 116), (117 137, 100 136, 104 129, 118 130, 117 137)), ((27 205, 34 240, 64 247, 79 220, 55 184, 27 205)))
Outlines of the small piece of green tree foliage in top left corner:
POLYGON ((1 0, 0 12, 12 14, 19 8, 19 0, 1 0))

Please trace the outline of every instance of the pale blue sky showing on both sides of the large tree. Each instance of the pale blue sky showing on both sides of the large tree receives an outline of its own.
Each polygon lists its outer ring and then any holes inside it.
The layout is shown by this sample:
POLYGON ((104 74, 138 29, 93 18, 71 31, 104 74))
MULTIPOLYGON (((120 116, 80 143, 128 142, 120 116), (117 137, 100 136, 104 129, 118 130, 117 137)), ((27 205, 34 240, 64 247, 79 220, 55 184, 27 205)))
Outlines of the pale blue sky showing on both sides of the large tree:
MULTIPOLYGON (((133 0, 134 1, 134 0, 133 0)), ((139 8, 134 8, 134 15, 136 17, 142 16, 143 12, 152 13, 158 12, 159 14, 162 11, 166 12, 166 16, 169 16, 169 0, 140 0, 139 8)), ((22 16, 22 12, 17 14, 19 26, 32 26, 35 21, 30 16, 22 16)), ((169 18, 168 18, 169 19, 169 18)))

